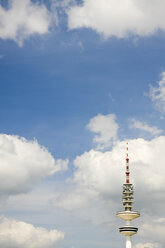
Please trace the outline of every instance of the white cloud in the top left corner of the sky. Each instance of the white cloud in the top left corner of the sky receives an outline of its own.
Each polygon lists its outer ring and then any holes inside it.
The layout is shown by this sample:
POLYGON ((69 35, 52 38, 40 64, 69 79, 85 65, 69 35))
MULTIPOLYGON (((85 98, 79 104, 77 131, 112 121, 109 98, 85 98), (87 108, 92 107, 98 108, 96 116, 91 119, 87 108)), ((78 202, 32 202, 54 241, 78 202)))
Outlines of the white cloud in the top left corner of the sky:
POLYGON ((30 35, 49 31, 50 13, 45 5, 31 0, 10 0, 9 9, 0 6, 0 38, 12 39, 19 45, 30 35))

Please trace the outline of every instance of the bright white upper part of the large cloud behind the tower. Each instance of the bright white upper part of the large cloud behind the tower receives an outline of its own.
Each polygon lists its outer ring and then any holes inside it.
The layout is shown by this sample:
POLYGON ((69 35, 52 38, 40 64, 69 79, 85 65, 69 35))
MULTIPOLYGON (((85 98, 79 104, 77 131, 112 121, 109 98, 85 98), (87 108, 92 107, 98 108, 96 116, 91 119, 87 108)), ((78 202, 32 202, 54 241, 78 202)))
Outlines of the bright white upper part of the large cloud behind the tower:
MULTIPOLYGON (((112 151, 91 150, 78 156, 74 161, 76 167, 74 181, 81 187, 93 189, 105 196, 106 194, 111 196, 118 194, 121 190, 121 182, 124 182, 125 177, 125 166, 122 166, 124 164, 125 146, 125 142, 122 141, 118 142, 112 151)), ((131 172, 133 171, 132 182, 136 185, 137 191, 141 192, 142 189, 145 189, 140 197, 146 198, 146 192, 152 193, 151 198, 154 197, 154 193, 159 191, 165 194, 164 146, 165 136, 150 141, 144 139, 129 141, 131 172)), ((157 202, 152 205, 155 207, 157 202)), ((140 207, 143 207, 143 205, 140 207)))

